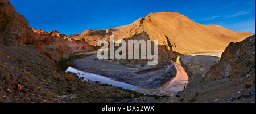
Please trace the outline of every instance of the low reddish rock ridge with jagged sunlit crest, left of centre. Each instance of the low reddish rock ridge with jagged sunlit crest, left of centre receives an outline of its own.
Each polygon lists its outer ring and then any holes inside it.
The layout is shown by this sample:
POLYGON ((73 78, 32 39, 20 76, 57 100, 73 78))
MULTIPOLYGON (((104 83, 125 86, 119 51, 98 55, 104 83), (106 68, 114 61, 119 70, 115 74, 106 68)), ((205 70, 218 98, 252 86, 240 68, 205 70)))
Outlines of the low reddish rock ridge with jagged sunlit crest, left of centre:
POLYGON ((73 53, 88 51, 94 48, 94 46, 91 46, 86 42, 74 40, 56 30, 52 32, 33 30, 37 40, 35 45, 36 50, 39 50, 42 54, 45 54, 52 60, 68 58, 73 53))

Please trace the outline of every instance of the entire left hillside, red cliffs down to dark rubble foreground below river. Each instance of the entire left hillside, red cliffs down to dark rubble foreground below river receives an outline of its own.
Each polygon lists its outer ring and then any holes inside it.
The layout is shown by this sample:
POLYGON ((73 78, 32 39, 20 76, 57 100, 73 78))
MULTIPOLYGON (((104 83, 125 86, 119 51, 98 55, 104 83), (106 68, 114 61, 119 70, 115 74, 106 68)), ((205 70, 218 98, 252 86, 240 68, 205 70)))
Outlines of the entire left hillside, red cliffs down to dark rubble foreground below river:
POLYGON ((54 60, 91 46, 56 31, 32 29, 8 0, 0 0, 0 11, 0 102, 168 102, 163 100, 166 97, 61 72, 54 60))

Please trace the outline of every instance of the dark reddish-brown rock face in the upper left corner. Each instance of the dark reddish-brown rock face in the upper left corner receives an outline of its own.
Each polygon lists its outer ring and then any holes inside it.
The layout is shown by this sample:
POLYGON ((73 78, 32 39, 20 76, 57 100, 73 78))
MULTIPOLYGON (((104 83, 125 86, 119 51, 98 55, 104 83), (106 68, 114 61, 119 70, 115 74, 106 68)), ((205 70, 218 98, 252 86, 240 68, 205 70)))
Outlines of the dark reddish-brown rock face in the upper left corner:
POLYGON ((0 1, 0 42, 6 46, 32 43, 35 33, 23 15, 15 11, 8 0, 0 1))

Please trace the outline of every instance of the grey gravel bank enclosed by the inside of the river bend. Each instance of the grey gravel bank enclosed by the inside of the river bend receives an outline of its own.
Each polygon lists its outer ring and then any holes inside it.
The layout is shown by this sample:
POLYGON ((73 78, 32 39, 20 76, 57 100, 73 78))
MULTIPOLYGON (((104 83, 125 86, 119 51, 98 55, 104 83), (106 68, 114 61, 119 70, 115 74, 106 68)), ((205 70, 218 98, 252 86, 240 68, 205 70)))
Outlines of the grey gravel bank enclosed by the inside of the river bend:
POLYGON ((97 60, 96 54, 72 60, 69 65, 144 88, 159 87, 176 76, 176 69, 171 62, 160 63, 154 67, 143 64, 129 67, 115 60, 97 60))

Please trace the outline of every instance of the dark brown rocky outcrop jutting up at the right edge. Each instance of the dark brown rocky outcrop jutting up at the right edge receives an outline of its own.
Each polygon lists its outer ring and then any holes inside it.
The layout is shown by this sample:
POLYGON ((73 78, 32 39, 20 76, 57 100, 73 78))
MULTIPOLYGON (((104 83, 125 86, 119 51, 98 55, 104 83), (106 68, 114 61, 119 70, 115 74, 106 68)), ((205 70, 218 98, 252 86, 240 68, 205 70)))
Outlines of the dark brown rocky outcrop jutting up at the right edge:
POLYGON ((248 75, 255 76, 255 35, 242 42, 231 42, 221 55, 220 62, 209 71, 209 81, 222 78, 236 79, 248 75))

